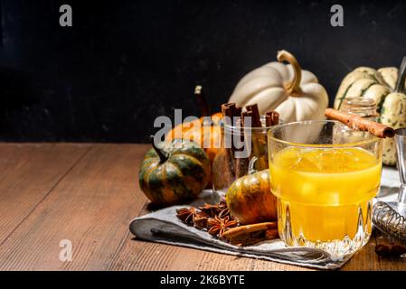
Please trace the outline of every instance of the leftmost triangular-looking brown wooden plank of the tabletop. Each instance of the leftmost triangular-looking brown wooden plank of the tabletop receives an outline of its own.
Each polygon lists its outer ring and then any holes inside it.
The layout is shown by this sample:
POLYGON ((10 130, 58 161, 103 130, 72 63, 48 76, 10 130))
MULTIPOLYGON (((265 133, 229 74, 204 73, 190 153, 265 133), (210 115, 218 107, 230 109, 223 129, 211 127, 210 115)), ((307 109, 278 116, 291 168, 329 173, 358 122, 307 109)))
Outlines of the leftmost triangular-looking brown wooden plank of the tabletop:
POLYGON ((0 245, 88 149, 79 144, 1 144, 0 245))

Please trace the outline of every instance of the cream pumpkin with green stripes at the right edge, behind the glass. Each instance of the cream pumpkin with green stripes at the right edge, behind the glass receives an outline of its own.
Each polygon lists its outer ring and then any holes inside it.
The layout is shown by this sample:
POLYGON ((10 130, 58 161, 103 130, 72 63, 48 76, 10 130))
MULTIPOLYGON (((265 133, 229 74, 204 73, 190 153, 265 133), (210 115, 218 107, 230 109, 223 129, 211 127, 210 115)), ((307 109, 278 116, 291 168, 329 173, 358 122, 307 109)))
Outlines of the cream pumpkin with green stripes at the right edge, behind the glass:
MULTIPOLYGON (((394 67, 374 70, 359 67, 345 76, 335 96, 335 109, 340 109, 345 98, 373 98, 377 104, 379 122, 400 128, 406 126, 406 57, 401 63, 401 77, 394 67)), ((396 146, 392 138, 383 140, 382 160, 384 164, 396 163, 396 146)))

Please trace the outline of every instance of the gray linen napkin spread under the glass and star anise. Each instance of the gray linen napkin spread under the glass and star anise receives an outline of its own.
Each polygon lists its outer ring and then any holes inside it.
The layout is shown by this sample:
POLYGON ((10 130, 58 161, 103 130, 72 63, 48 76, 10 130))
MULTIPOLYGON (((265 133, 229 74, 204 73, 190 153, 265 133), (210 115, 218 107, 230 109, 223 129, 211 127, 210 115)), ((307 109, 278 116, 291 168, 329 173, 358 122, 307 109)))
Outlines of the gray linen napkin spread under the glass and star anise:
MULTIPOLYGON (((384 199, 392 198, 396 187, 399 187, 397 171, 392 168, 384 168, 382 171, 382 192, 384 192, 384 199)), ((204 202, 213 203, 213 199, 212 191, 203 191, 199 199, 195 200, 191 205, 198 206, 204 202)), ((133 219, 129 229, 138 239, 146 241, 318 269, 340 268, 352 256, 337 259, 325 251, 315 248, 286 247, 280 239, 263 241, 253 246, 233 246, 213 238, 205 231, 187 226, 177 219, 176 209, 182 207, 184 205, 156 210, 145 216, 133 219)))

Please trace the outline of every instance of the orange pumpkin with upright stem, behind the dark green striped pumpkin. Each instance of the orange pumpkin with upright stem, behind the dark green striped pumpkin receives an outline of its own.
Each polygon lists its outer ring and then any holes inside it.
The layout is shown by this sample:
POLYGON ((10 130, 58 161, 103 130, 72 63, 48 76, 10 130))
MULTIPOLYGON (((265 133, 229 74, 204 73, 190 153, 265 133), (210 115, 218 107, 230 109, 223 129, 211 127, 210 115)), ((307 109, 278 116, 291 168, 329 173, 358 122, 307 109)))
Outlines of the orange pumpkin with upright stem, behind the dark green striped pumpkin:
MULTIPOLYGON (((192 122, 185 122, 175 126, 174 129, 165 135, 165 141, 171 141, 175 138, 184 138, 194 141, 196 144, 203 147, 204 152, 208 155, 210 163, 212 164, 214 156, 221 147, 222 128, 220 126, 220 121, 222 120, 222 113, 218 112, 213 114, 212 117, 210 117, 211 121, 205 122, 204 117, 209 115, 209 106, 203 97, 201 86, 196 86, 194 89, 194 95, 200 102, 203 117, 192 122)), ((211 186, 212 182, 209 182, 207 187, 211 186)))

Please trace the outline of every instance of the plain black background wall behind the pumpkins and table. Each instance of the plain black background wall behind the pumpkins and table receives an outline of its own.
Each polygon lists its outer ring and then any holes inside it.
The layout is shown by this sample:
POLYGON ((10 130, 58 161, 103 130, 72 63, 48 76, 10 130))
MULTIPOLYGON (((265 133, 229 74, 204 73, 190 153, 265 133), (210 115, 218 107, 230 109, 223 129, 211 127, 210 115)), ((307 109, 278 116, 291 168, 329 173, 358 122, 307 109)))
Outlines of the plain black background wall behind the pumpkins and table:
POLYGON ((145 142, 155 117, 213 110, 241 77, 293 52, 330 101, 357 66, 406 55, 402 1, 15 1, 1 4, 0 140, 145 142), (70 4, 73 27, 59 25, 70 4), (330 25, 344 6, 345 27, 330 25))

